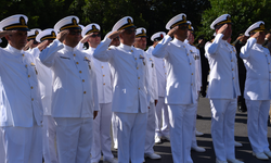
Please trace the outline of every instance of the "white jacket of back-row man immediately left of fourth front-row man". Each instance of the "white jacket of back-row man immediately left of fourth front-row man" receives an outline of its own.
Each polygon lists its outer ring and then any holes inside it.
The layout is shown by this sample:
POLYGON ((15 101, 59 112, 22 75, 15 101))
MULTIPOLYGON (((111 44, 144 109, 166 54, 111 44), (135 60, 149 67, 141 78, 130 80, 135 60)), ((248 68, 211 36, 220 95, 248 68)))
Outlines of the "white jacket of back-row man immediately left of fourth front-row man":
MULTIPOLYGON (((154 47, 151 46, 146 53, 153 55, 154 47)), ((166 85, 167 85, 167 68, 165 59, 153 58, 155 62, 155 70, 156 70, 156 77, 157 77, 157 89, 158 89, 158 97, 166 96, 166 85)))

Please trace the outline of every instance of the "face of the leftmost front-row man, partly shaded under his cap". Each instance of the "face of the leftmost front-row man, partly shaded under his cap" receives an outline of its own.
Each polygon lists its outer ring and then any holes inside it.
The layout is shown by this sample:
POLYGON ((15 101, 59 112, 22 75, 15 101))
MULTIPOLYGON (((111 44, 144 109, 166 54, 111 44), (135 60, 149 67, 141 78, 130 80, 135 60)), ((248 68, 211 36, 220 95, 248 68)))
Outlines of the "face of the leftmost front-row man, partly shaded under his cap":
POLYGON ((27 43, 27 32, 16 30, 5 38, 12 47, 22 50, 27 43))

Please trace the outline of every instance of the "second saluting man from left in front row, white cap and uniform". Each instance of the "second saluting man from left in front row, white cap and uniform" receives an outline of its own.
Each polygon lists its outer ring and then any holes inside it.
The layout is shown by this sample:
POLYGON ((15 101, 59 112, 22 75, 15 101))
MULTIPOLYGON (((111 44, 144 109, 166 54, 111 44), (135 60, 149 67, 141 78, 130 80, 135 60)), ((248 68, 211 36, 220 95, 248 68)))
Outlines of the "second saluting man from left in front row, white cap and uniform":
POLYGON ((55 39, 40 53, 40 61, 53 71, 52 116, 60 163, 90 162, 93 114, 99 111, 93 63, 76 47, 81 36, 78 23, 77 16, 59 21, 54 30, 64 35, 63 43, 55 39))

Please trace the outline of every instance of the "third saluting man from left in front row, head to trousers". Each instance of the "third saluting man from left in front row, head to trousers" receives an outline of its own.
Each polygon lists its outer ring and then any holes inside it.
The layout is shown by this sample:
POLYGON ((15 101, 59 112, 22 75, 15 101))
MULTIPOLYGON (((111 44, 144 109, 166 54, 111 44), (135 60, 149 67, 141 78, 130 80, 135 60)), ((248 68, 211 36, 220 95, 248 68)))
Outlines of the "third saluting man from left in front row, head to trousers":
POLYGON ((132 17, 119 20, 112 30, 93 57, 111 64, 114 79, 112 111, 118 117, 118 162, 142 163, 150 106, 146 57, 143 50, 132 47, 136 38, 132 17), (108 48, 118 35, 120 46, 108 48))

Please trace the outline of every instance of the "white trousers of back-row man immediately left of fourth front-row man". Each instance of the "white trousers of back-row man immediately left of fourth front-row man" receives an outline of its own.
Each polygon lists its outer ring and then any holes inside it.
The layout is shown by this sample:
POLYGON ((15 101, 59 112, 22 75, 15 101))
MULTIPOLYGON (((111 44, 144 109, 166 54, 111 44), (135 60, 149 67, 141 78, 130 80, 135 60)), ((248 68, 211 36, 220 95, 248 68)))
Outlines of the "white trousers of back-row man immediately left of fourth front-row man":
POLYGON ((156 126, 155 136, 158 137, 169 136, 169 129, 170 129, 169 115, 168 115, 168 108, 167 104, 165 104, 164 97, 159 97, 158 103, 156 104, 155 126, 156 126))

